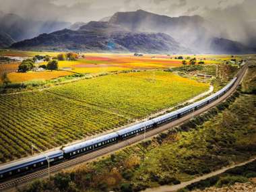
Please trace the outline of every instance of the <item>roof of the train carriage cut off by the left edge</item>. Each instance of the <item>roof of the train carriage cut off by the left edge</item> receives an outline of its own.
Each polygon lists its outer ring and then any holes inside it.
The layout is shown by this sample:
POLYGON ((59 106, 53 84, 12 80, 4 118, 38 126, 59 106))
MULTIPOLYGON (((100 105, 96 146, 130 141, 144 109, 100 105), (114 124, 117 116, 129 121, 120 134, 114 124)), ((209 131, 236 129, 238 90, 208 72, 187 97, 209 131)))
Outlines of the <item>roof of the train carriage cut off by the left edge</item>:
MULTIPOLYGON (((55 158, 58 156, 62 156, 63 152, 61 150, 55 150, 53 152, 47 152, 44 154, 45 156, 48 156, 50 159, 55 158)), ((32 156, 30 158, 24 158, 23 160, 18 160, 15 162, 10 162, 8 164, 4 164, 0 166, 0 174, 3 172, 8 172, 17 168, 22 168, 24 166, 29 166, 31 164, 35 164, 37 162, 41 162, 46 160, 45 156, 43 154, 32 156)))

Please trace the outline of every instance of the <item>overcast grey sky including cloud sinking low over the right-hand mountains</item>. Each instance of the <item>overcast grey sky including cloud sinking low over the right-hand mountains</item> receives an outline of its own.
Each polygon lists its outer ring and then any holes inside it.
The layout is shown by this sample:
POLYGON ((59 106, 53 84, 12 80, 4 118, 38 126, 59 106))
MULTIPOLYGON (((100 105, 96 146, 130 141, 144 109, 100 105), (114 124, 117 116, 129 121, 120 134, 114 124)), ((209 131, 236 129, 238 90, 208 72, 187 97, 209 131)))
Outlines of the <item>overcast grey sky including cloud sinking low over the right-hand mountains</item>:
POLYGON ((73 23, 137 9, 170 17, 201 15, 223 27, 226 38, 242 42, 249 42, 256 30, 255 0, 0 0, 0 5, 0 15, 15 13, 33 20, 73 23))

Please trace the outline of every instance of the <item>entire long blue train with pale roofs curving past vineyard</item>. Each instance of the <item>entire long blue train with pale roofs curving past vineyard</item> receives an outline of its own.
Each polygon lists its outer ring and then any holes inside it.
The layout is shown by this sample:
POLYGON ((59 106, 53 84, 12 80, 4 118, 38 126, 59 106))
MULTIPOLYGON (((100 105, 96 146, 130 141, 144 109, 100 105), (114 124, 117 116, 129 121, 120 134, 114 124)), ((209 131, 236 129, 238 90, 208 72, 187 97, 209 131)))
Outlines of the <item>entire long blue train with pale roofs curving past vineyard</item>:
POLYGON ((49 164, 57 164, 65 160, 69 160, 70 158, 75 158, 75 156, 79 156, 80 154, 93 152, 99 148, 104 148, 106 146, 112 145, 113 143, 117 143, 119 141, 128 139, 129 137, 133 137, 139 133, 143 133, 144 131, 148 131, 149 129, 156 129, 160 125, 169 123, 175 119, 179 119, 189 113, 193 113, 193 111, 198 110, 207 104, 210 104, 214 100, 217 100, 226 92, 228 92, 230 88, 232 88, 236 80, 237 77, 234 77, 224 88, 218 92, 160 117, 138 123, 137 125, 133 125, 113 133, 95 137, 94 139, 75 143, 59 150, 54 150, 52 152, 46 152, 45 154, 40 154, 30 158, 24 158, 22 160, 3 164, 0 166, 0 181, 10 179, 11 177, 17 177, 22 174, 28 174, 29 172, 34 172, 40 168, 48 166, 49 164))

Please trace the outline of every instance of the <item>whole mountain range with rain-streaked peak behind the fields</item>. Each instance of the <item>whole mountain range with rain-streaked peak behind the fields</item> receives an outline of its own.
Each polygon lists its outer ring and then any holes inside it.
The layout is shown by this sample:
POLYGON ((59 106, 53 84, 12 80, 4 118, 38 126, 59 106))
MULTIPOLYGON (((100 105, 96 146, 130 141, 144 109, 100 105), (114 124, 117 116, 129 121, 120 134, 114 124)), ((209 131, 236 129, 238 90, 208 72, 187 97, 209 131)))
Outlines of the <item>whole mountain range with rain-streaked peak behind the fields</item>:
MULTIPOLYGON (((1 22, 0 22, 1 25, 1 22)), ((15 42, 13 49, 141 53, 253 53, 255 49, 222 37, 216 24, 199 15, 170 18, 148 11, 117 12, 98 22, 40 24, 39 36, 15 42), (46 28, 44 28, 46 26, 46 28), (49 32, 46 32, 49 31, 49 32)), ((4 31, 6 34, 9 34, 4 31)), ((34 35, 36 32, 28 34, 34 35)), ((13 33, 9 35, 18 41, 13 33)), ((19 38, 25 38, 26 33, 19 38)))

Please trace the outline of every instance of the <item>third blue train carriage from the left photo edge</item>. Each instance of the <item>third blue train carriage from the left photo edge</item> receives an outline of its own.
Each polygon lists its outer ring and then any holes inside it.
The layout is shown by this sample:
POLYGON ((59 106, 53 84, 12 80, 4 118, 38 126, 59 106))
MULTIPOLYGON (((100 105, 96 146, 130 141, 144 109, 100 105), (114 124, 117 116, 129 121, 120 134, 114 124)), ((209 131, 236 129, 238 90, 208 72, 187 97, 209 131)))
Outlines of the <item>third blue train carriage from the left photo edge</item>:
POLYGON ((125 129, 121 129, 117 131, 121 140, 127 139, 128 137, 132 137, 133 135, 137 135, 143 131, 148 129, 152 129, 156 126, 153 120, 145 121, 143 123, 139 123, 137 125, 133 125, 131 127, 127 127, 125 129))

